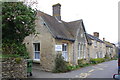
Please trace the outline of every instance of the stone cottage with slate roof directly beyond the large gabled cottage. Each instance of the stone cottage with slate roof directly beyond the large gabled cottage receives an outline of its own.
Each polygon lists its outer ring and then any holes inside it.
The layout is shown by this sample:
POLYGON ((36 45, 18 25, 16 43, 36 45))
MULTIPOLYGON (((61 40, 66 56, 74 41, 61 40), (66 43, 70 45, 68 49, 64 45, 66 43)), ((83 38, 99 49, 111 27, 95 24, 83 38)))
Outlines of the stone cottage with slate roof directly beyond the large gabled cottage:
POLYGON ((106 46, 102 40, 99 39, 99 33, 94 32, 93 35, 87 34, 87 38, 89 39, 88 44, 88 53, 89 58, 104 58, 106 46))

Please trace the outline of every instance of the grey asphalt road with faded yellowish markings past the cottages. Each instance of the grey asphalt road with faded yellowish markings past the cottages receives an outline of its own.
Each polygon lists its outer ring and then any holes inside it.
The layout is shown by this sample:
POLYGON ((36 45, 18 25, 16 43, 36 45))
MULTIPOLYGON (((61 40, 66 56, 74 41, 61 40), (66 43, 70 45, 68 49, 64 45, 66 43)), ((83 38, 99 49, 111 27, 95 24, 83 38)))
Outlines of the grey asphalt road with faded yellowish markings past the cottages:
POLYGON ((33 69, 31 78, 112 78, 117 73, 117 60, 103 62, 67 73, 43 72, 33 69))

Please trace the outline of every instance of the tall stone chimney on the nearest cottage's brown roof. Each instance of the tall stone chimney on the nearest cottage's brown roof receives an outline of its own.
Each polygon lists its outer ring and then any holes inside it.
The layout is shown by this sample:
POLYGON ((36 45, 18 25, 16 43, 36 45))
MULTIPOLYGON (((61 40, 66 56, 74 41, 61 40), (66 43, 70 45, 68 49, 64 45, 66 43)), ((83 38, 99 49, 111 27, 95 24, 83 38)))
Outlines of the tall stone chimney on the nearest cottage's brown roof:
POLYGON ((59 21, 61 21, 61 5, 55 4, 53 7, 53 16, 56 17, 59 21))

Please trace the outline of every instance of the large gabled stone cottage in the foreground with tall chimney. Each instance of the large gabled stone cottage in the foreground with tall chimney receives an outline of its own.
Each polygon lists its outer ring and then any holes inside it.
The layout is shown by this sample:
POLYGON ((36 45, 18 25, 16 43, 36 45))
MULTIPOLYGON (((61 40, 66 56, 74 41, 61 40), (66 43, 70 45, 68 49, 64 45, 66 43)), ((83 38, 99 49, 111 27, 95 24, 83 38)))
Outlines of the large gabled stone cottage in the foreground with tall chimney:
POLYGON ((54 68, 58 53, 73 65, 77 65, 78 59, 88 58, 83 20, 65 22, 61 20, 61 5, 58 3, 52 7, 53 16, 37 11, 36 34, 24 40, 30 58, 45 70, 54 68))

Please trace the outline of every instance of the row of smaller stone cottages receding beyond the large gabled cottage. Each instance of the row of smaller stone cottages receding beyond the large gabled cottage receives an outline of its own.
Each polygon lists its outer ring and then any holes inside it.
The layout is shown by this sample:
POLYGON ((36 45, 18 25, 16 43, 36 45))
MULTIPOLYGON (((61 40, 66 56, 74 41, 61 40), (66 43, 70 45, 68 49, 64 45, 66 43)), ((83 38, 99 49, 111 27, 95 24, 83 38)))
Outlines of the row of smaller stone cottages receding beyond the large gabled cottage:
POLYGON ((87 38, 91 44, 88 44, 90 58, 104 58, 106 55, 113 58, 116 55, 116 46, 113 43, 99 39, 99 33, 94 32, 93 35, 87 34, 87 38))

